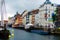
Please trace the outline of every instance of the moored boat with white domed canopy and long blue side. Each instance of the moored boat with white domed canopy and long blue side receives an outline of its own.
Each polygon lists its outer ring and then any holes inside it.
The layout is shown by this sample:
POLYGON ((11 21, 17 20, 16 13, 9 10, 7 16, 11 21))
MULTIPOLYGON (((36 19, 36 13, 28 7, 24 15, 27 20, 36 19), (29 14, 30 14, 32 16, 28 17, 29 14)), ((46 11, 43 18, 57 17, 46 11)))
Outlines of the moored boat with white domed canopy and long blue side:
POLYGON ((27 24, 25 26, 25 30, 28 31, 28 32, 32 32, 32 33, 38 33, 38 34, 41 34, 41 35, 48 35, 49 32, 46 30, 44 30, 44 28, 35 28, 33 26, 33 24, 27 24))

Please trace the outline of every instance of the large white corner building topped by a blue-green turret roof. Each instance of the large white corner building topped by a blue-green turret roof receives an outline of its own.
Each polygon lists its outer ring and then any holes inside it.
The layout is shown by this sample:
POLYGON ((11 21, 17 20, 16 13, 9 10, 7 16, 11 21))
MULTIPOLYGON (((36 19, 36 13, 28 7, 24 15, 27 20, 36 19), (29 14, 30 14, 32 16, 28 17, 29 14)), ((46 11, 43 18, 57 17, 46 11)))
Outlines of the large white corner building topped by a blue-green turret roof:
POLYGON ((36 23, 39 23, 39 25, 48 26, 50 25, 50 28, 53 26, 52 21, 52 13, 54 13, 56 9, 56 6, 52 4, 49 0, 46 0, 40 7, 39 7, 39 13, 36 15, 36 23))

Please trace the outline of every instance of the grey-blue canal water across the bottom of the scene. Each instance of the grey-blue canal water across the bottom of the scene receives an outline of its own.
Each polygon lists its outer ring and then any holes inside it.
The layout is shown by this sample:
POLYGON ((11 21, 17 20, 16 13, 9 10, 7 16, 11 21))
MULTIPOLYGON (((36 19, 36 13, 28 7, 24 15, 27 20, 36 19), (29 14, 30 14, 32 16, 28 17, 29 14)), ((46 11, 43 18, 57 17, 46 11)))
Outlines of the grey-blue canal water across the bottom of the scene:
POLYGON ((9 36, 8 40, 60 40, 59 35, 40 35, 14 28, 8 29, 11 32, 11 35, 9 36))

